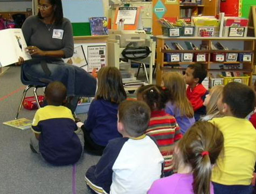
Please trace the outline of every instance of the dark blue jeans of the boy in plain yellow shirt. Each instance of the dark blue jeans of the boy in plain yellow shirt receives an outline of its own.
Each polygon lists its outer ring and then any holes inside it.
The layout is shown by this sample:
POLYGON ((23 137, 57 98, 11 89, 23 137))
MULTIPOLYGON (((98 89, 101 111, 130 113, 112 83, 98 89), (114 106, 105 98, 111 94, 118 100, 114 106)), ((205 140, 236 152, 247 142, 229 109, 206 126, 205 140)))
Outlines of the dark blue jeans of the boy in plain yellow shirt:
POLYGON ((212 184, 215 194, 253 194, 252 185, 222 185, 214 182, 212 184))

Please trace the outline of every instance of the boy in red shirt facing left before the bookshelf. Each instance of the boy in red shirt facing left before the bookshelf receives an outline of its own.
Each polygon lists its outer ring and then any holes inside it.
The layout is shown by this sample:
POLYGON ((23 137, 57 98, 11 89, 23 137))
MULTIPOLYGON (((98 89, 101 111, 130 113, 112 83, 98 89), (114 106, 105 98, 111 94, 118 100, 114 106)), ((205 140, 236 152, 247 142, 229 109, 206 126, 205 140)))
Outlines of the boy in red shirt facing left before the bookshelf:
POLYGON ((206 108, 203 105, 207 90, 202 85, 202 81, 205 79, 207 71, 203 64, 189 65, 186 68, 184 75, 186 84, 186 96, 188 97, 193 110, 195 112, 195 120, 198 121, 201 115, 206 114, 206 108))

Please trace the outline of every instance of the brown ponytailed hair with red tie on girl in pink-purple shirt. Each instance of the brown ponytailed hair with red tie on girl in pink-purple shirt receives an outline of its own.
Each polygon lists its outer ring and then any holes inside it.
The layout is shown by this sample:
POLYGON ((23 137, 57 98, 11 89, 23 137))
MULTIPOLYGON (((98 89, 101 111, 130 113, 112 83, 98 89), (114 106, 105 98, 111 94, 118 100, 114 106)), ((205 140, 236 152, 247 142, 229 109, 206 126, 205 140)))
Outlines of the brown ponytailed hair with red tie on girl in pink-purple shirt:
MULTIPOLYGON (((179 159, 192 168, 195 194, 210 194, 212 165, 216 163, 223 148, 222 132, 207 121, 196 122, 178 142, 181 153, 179 159), (203 151, 208 151, 209 154, 202 155, 203 151)), ((174 157, 177 165, 177 155, 174 157)))

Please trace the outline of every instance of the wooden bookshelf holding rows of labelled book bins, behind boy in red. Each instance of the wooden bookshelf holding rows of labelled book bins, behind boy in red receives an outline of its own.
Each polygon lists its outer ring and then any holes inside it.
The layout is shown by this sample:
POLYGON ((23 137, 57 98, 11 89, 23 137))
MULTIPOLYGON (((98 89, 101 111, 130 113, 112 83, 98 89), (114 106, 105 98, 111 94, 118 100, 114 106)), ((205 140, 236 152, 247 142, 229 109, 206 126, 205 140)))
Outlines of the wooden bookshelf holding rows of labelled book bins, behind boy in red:
MULTIPOLYGON (((251 77, 249 85, 252 84, 252 73, 254 65, 254 50, 255 50, 255 37, 166 37, 166 36, 156 36, 157 40, 157 59, 156 59, 156 84, 160 85, 162 80, 162 74, 165 71, 185 71, 186 67, 190 64, 196 64, 200 62, 167 62, 164 60, 165 53, 205 53, 206 61, 201 62, 205 65, 208 72, 241 72, 251 77), (207 50, 166 50, 164 44, 171 44, 180 41, 195 42, 195 44, 207 45, 207 50), (211 44, 219 41, 220 43, 229 43, 229 50, 211 50, 211 44), (236 50, 232 50, 236 49, 236 50), (251 53, 251 61, 240 62, 240 61, 223 61, 216 62, 211 60, 212 53, 251 53), (219 66, 222 65, 240 65, 242 68, 230 68, 230 69, 220 69, 219 66)), ((183 46, 185 48, 185 46, 183 46)))

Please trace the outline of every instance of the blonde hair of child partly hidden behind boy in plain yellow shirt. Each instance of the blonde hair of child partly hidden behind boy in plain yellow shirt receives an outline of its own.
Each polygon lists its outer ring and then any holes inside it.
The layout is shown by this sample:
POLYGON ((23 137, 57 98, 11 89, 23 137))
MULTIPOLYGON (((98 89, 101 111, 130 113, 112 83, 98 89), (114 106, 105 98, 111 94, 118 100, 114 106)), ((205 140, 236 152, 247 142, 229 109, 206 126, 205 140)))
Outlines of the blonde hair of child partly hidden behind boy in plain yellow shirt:
POLYGON ((223 85, 218 85, 210 89, 209 95, 211 95, 211 98, 206 105, 206 115, 219 114, 217 102, 223 92, 223 88, 223 85))

